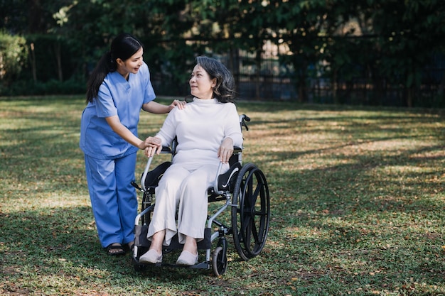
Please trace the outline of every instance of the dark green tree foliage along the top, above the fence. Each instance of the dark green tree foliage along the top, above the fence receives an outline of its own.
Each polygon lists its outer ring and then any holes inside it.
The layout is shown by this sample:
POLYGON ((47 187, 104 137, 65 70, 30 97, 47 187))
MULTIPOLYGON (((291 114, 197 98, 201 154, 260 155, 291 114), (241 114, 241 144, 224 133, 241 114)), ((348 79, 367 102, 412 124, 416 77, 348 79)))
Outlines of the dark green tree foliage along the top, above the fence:
POLYGON ((316 77, 329 82, 338 103, 365 77, 360 83, 375 89, 369 104, 381 104, 391 84, 405 89, 404 104, 412 106, 424 68, 445 50, 442 0, 0 0, 0 11, 11 35, 53 35, 63 41, 48 48, 68 46, 72 70, 56 62, 56 79, 85 79, 114 35, 127 31, 144 42, 151 69, 177 85, 171 92, 183 92, 194 55, 209 52, 228 53, 235 74, 247 62, 240 50, 251 53, 259 83, 269 41, 286 48, 280 63, 293 69, 301 102, 316 77))

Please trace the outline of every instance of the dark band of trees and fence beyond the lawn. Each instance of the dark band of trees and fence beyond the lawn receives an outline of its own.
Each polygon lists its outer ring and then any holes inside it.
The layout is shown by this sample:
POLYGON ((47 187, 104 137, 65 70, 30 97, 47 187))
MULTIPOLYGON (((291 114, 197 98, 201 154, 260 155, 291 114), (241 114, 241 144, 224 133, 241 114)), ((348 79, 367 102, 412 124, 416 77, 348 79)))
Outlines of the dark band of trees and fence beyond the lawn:
POLYGON ((0 96, 85 93, 125 31, 158 95, 186 95, 211 55, 242 99, 445 106, 441 0, 3 0, 0 16, 0 96))

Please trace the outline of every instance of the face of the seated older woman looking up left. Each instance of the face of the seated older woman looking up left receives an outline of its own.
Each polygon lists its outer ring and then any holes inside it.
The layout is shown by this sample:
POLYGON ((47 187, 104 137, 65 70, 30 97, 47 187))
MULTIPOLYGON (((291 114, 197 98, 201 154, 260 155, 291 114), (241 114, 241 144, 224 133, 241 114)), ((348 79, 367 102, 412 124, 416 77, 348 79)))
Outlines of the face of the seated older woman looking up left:
POLYGON ((216 85, 216 79, 210 79, 208 72, 203 67, 195 65, 191 74, 190 93, 198 99, 213 99, 213 87, 216 85))

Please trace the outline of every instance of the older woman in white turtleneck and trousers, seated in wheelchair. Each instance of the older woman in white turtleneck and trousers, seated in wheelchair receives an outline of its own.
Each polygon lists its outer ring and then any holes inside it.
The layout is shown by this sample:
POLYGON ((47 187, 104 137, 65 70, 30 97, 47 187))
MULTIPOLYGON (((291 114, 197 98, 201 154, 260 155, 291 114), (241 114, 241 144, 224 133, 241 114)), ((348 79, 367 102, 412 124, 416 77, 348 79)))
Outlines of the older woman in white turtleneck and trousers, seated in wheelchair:
POLYGON ((173 109, 161 131, 149 138, 152 146, 145 149, 152 156, 178 138, 172 165, 156 187, 156 207, 147 234, 151 246, 139 258, 141 263, 161 263, 162 248, 169 246, 176 233, 184 245, 176 263, 198 262, 197 241, 204 238, 208 187, 219 163, 224 165, 222 172, 227 171, 233 147, 242 146, 230 71, 210 57, 197 57, 189 84, 193 102, 183 110, 173 109))

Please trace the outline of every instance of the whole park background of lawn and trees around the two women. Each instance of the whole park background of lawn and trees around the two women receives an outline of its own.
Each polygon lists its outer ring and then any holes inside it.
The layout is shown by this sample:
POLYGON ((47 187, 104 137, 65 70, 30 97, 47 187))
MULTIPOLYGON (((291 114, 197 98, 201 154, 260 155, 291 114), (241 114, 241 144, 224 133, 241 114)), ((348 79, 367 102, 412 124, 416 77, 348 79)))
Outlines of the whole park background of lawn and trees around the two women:
MULTIPOLYGON (((444 6, 0 0, 0 295, 445 295, 444 6), (237 78, 271 224, 250 261, 228 237, 222 277, 137 273, 100 248, 80 116, 121 31, 144 41, 163 104, 188 94, 195 55, 237 78)), ((140 135, 164 118, 141 112, 140 135)))

